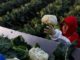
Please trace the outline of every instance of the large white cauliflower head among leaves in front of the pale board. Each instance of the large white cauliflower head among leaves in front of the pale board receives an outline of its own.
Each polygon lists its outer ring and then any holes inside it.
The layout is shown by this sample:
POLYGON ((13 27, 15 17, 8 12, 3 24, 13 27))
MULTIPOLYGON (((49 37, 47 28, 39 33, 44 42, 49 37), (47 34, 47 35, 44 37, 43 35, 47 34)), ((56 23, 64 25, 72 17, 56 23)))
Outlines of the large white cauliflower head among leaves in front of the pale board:
POLYGON ((41 48, 32 48, 29 50, 31 60, 48 60, 49 55, 41 48))

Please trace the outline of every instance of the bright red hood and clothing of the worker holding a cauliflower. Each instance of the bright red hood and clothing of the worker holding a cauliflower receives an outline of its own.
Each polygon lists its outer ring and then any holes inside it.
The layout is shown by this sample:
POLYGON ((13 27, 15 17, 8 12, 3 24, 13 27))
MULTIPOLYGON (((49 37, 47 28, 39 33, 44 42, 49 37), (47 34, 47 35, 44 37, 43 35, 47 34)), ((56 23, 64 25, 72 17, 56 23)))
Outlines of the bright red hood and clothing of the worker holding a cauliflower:
POLYGON ((68 30, 64 34, 71 42, 78 40, 78 47, 80 47, 80 37, 77 33, 78 22, 75 16, 68 16, 64 19, 64 23, 67 24, 68 30))

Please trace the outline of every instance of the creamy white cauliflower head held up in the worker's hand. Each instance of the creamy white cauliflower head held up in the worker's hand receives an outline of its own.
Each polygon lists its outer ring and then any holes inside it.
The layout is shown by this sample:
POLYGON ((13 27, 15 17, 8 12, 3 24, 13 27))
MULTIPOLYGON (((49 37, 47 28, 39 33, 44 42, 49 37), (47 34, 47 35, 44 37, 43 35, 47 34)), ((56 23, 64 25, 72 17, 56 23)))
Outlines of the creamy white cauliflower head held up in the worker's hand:
POLYGON ((55 15, 44 15, 41 22, 45 24, 58 24, 57 17, 55 15))

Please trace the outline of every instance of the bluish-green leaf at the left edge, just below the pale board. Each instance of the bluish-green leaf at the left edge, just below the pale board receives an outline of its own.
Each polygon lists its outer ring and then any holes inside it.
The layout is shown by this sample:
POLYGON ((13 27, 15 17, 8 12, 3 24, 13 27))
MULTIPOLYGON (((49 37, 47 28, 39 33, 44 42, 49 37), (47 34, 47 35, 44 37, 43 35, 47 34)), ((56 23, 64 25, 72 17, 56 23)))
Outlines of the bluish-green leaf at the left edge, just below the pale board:
POLYGON ((0 52, 6 52, 11 47, 11 41, 7 37, 0 37, 0 52))

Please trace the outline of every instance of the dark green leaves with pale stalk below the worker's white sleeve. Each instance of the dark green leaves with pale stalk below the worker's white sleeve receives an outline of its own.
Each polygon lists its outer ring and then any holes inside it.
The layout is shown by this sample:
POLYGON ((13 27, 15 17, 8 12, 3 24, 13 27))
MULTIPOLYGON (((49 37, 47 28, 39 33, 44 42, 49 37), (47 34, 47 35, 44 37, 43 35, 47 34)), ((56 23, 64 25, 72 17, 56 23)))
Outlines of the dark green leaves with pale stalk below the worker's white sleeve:
POLYGON ((60 43, 53 52, 55 60, 74 60, 72 53, 75 51, 76 45, 76 40, 71 45, 65 45, 63 43, 60 43))

